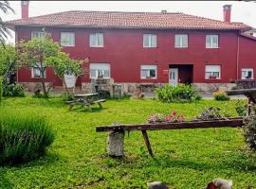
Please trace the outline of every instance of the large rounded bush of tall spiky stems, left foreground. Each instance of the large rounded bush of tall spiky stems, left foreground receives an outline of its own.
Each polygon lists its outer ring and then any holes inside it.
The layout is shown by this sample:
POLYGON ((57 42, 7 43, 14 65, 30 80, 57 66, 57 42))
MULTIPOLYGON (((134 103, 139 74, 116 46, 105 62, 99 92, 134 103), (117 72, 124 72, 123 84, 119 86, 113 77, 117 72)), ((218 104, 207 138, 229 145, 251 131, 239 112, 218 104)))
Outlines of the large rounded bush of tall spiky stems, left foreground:
POLYGON ((46 152, 55 138, 45 117, 31 112, 0 110, 0 164, 26 163, 46 152))

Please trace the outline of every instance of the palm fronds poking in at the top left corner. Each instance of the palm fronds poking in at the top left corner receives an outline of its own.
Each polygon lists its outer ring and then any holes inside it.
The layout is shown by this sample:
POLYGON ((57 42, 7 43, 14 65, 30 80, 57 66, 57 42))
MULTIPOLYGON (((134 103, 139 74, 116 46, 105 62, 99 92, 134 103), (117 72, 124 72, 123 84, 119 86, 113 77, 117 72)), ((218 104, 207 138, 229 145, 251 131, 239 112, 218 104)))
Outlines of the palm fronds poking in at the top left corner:
MULTIPOLYGON (((4 12, 5 14, 7 14, 9 10, 14 13, 14 10, 9 7, 9 1, 0 1, 0 12, 4 12)), ((2 45, 5 44, 5 41, 9 35, 9 29, 5 25, 2 18, 0 17, 0 43, 2 45)))

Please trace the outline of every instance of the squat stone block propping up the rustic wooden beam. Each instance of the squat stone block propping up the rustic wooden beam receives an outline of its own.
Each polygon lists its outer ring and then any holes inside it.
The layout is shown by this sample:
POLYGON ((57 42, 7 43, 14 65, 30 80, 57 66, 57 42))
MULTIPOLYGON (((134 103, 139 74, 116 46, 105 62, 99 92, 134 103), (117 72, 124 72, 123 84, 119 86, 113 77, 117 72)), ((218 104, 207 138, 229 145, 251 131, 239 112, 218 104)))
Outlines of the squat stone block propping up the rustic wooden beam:
POLYGON ((124 131, 111 131, 107 136, 107 154, 113 157, 123 157, 124 131))

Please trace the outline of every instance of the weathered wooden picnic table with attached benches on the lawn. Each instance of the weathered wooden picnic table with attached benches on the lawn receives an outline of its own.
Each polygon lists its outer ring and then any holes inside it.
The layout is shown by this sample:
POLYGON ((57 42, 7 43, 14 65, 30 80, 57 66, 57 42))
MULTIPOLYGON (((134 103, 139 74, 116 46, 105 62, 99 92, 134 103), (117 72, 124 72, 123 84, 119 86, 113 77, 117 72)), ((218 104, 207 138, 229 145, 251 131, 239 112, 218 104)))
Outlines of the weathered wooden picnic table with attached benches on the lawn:
POLYGON ((106 99, 99 99, 98 93, 94 94, 75 94, 74 100, 66 101, 66 104, 69 104, 69 111, 72 110, 73 106, 81 105, 82 107, 86 106, 89 110, 91 110, 91 106, 94 104, 98 104, 100 108, 102 108, 101 103, 105 102, 106 99))

